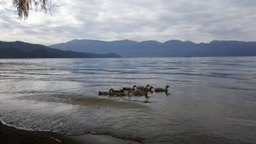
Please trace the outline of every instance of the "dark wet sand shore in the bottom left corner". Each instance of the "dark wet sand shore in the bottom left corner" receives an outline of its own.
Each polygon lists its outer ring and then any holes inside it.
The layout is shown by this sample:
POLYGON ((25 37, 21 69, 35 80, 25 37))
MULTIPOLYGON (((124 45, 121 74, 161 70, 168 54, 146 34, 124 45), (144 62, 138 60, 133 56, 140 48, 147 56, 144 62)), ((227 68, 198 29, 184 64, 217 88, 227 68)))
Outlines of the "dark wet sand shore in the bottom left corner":
POLYGON ((84 144, 84 143, 140 143, 138 141, 122 140, 108 135, 84 134, 70 136, 56 132, 24 131, 15 127, 8 127, 0 122, 0 143, 6 144, 84 144))

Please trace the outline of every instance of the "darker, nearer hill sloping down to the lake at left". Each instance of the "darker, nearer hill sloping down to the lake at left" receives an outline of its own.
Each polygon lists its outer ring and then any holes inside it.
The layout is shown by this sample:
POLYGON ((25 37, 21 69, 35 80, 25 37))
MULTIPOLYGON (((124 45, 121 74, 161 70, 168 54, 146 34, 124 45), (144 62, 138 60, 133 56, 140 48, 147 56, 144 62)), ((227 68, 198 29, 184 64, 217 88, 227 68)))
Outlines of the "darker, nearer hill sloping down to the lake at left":
POLYGON ((52 49, 45 45, 26 42, 1 42, 0 58, 121 58, 118 54, 94 54, 92 52, 74 52, 52 49))

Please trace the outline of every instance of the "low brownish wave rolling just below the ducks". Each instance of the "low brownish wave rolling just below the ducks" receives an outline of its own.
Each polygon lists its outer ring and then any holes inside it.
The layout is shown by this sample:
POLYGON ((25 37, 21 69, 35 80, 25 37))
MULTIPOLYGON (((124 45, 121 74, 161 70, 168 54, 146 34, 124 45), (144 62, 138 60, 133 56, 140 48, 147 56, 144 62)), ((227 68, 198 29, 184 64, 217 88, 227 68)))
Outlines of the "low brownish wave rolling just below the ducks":
POLYGON ((17 99, 24 100, 36 100, 44 102, 62 102, 67 104, 77 104, 77 105, 90 105, 90 106, 111 106, 118 108, 130 108, 130 109, 140 109, 148 108, 143 104, 132 101, 122 101, 111 98, 100 98, 100 97, 90 97, 84 95, 63 95, 63 94, 53 94, 53 95, 28 95, 23 97, 18 97, 17 99))

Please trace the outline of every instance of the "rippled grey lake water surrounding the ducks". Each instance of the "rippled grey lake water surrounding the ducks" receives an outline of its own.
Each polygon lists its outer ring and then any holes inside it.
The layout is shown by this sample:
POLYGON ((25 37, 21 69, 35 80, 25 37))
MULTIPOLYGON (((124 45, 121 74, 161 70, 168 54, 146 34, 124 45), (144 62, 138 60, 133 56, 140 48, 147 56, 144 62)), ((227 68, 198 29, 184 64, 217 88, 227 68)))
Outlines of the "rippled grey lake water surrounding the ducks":
POLYGON ((256 143, 256 57, 0 60, 0 120, 143 143, 256 143), (99 96, 122 87, 144 96, 99 96))

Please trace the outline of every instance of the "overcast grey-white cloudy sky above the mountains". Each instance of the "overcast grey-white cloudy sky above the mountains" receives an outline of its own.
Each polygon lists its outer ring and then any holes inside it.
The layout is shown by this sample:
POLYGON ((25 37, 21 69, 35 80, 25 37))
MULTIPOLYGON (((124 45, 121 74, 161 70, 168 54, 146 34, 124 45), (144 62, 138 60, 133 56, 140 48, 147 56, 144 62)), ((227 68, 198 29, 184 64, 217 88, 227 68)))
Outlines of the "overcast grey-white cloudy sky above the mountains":
POLYGON ((2 0, 0 40, 256 41, 255 0, 54 0, 51 10, 19 20, 12 1, 2 0))

